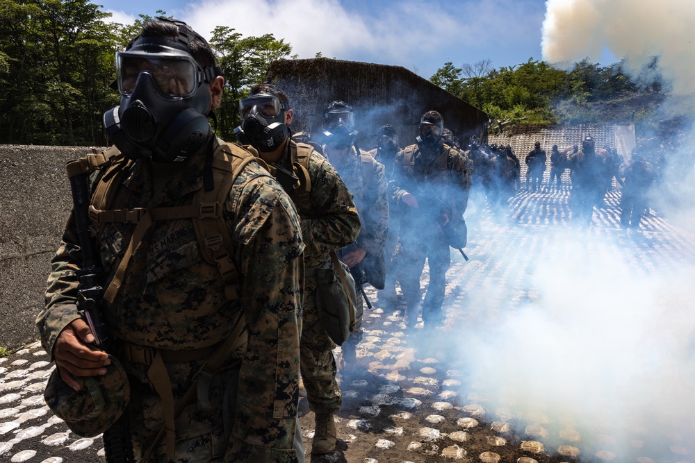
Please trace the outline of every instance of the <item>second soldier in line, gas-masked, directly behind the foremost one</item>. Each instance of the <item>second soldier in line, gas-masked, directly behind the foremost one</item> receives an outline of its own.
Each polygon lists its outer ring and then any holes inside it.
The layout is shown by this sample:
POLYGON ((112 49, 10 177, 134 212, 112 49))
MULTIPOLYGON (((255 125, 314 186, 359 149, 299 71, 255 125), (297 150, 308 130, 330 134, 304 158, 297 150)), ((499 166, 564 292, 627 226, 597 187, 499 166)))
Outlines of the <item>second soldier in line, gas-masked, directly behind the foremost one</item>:
POLYGON ((243 121, 234 133, 240 142, 259 150, 300 214, 306 242, 300 353, 306 398, 315 414, 311 453, 330 453, 336 448, 333 414, 340 410, 342 396, 332 353, 336 344, 318 312, 318 276, 339 270, 333 269, 329 253, 354 242, 360 230, 357 208, 336 169, 313 146, 291 139, 294 111, 285 92, 270 83, 254 85, 239 107, 243 121))

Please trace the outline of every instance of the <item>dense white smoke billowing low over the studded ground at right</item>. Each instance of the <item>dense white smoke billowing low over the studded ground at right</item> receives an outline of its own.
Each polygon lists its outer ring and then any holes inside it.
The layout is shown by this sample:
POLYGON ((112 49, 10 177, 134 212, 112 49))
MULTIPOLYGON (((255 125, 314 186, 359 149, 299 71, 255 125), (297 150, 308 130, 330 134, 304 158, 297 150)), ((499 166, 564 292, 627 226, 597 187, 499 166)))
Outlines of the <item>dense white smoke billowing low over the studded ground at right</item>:
POLYGON ((480 268, 448 276, 465 288, 464 307, 449 309, 460 325, 421 346, 450 353, 466 378, 464 403, 483 405, 490 421, 512 414, 522 435, 545 427, 551 451, 568 444, 561 430, 576 430, 589 460, 600 450, 618 461, 692 451, 692 246, 669 250, 673 242, 648 234, 491 230, 469 237, 473 260, 463 266, 485 266, 484 284, 469 284, 480 268))

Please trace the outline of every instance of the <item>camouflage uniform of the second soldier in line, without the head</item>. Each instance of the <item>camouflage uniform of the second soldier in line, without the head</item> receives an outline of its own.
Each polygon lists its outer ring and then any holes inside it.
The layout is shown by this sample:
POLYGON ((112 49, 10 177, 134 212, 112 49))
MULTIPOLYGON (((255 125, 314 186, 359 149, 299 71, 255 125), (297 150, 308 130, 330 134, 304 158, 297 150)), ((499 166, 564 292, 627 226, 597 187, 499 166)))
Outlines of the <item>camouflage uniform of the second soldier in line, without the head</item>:
MULTIPOLYGON (((310 149, 303 145, 302 149, 310 149)), ((290 142, 293 162, 297 160, 297 144, 290 142)), ((337 251, 354 241, 360 230, 359 216, 352 195, 345 187, 336 169, 314 151, 309 159, 311 178, 311 210, 300 204, 302 236, 306 242, 304 262, 304 319, 302 326, 302 381, 306 388, 309 408, 316 414, 334 413, 343 403, 341 389, 336 382, 336 361, 332 350, 336 344, 321 325, 316 310, 316 267, 331 267, 330 251, 337 251)))

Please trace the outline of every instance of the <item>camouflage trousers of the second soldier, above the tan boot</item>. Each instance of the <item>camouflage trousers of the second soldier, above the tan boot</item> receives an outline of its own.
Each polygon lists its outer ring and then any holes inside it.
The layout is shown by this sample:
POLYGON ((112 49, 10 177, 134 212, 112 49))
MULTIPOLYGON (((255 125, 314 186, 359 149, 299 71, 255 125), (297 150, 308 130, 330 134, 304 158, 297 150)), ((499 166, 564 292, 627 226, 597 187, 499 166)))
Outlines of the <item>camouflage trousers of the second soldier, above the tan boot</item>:
POLYGON ((341 409, 343 396, 336 382, 336 344, 327 335, 316 309, 316 277, 304 280, 300 371, 309 408, 314 413, 335 413, 341 409))

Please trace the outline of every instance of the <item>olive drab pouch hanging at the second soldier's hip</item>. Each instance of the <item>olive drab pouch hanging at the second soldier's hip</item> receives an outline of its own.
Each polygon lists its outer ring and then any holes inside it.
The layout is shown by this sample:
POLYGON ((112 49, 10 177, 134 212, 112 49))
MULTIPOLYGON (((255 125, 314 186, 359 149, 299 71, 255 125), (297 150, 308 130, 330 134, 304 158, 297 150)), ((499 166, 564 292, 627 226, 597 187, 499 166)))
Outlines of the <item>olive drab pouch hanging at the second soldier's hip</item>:
POLYGON ((321 325, 329 337, 341 346, 355 330, 357 291, 354 278, 344 264, 331 253, 333 267, 316 269, 316 309, 321 325))

